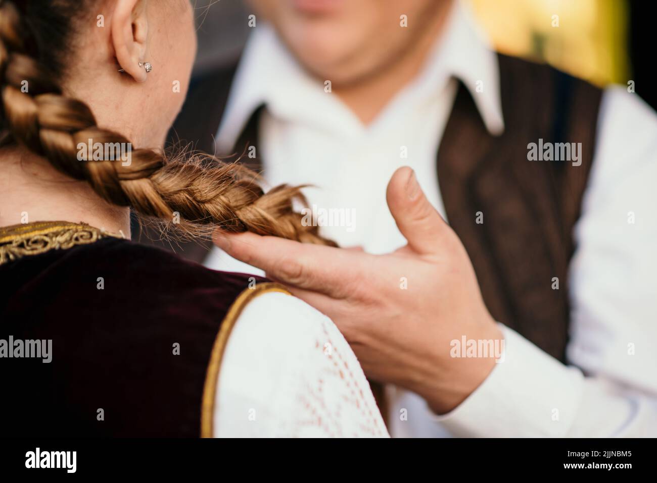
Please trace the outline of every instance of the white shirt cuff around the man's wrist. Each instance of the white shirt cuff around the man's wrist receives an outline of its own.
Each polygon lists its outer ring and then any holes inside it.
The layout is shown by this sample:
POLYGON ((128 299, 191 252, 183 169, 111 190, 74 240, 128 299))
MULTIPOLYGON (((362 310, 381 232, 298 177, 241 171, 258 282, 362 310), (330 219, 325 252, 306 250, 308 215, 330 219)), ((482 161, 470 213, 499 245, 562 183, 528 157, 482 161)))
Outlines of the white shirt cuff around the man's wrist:
POLYGON ((500 324, 504 355, 457 408, 436 416, 454 436, 564 436, 576 417, 584 377, 500 324))

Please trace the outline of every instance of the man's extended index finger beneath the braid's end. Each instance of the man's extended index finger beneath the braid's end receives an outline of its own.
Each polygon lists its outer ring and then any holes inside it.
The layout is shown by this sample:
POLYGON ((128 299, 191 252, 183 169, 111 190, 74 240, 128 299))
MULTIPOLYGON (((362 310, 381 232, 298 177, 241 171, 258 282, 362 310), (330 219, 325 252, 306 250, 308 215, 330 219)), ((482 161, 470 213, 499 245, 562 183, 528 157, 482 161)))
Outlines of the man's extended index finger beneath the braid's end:
MULTIPOLYGON (((291 287, 343 298, 348 285, 360 274, 353 252, 339 248, 292 242, 253 233, 217 231, 214 243, 244 263, 261 268, 267 276, 291 287)), ((362 254, 360 255, 362 256, 362 254)))

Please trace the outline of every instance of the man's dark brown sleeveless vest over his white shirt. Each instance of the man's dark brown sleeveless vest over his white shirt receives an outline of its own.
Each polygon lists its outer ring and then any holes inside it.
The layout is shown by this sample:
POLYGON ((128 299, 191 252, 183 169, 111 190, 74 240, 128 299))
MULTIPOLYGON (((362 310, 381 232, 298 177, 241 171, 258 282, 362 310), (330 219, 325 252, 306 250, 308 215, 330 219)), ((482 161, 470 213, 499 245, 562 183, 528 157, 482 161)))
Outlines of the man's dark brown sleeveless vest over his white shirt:
MULTIPOLYGON (((547 65, 504 55, 498 59, 505 131, 495 137, 486 130, 461 84, 437 154, 440 190, 449 224, 470 255, 493 317, 564 360, 573 227, 593 161, 602 91, 547 65), (581 165, 528 161, 528 144, 539 139, 581 142, 581 165), (553 289, 555 278, 558 289, 553 289)), ((180 138, 214 152, 234 74, 235 66, 196 81, 175 124, 180 138)), ((261 110, 250 117, 229 154, 258 145, 261 110)), ((259 159, 246 161, 261 167, 259 159)), ((204 255, 192 249, 189 257, 204 255)))

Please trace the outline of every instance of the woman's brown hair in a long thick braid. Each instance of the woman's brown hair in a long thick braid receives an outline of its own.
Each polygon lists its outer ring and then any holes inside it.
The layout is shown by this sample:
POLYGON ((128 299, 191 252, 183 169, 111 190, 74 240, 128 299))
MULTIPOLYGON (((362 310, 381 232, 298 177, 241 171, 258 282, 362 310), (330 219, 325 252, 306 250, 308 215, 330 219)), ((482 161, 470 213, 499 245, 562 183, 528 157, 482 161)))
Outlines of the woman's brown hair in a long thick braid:
MULTIPOLYGON (((168 224, 187 238, 214 228, 250 231, 300 242, 335 245, 304 226, 294 201, 306 204, 300 186, 277 186, 266 194, 259 177, 237 163, 198 153, 167 157, 136 149, 121 159, 79 160, 79 143, 125 143, 99 127, 89 107, 62 93, 68 31, 80 0, 0 0, 0 146, 19 144, 61 173, 88 182, 104 200, 132 207, 168 224), (42 54, 47 39, 49 54, 42 54), (21 87, 27 81, 28 92, 21 87)), ((125 144, 123 144, 125 146, 125 144)))

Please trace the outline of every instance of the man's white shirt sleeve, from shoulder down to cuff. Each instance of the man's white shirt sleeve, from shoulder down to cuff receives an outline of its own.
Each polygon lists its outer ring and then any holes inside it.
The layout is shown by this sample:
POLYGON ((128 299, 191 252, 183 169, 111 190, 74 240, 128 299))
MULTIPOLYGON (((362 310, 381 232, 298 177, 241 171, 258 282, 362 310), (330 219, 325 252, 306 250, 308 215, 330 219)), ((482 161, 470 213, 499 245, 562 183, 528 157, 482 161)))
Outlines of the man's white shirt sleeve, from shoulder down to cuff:
POLYGON ((657 436, 657 116, 608 89, 570 265, 568 367, 507 327, 458 436, 657 436))

